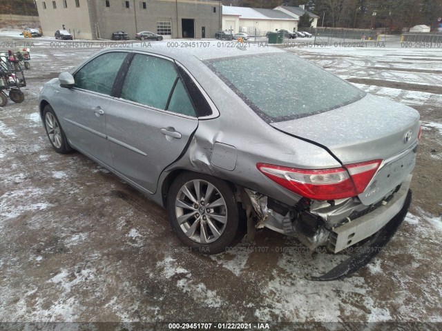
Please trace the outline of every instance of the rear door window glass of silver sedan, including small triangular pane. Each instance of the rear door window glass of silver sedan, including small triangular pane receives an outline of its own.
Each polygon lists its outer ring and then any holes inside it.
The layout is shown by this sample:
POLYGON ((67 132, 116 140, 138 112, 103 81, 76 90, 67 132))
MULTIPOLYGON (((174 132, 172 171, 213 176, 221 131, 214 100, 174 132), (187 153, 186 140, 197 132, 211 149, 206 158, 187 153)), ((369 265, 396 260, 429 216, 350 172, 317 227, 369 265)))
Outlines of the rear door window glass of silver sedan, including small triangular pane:
POLYGON ((175 64, 144 54, 136 54, 122 87, 122 99, 142 105, 196 116, 175 64))

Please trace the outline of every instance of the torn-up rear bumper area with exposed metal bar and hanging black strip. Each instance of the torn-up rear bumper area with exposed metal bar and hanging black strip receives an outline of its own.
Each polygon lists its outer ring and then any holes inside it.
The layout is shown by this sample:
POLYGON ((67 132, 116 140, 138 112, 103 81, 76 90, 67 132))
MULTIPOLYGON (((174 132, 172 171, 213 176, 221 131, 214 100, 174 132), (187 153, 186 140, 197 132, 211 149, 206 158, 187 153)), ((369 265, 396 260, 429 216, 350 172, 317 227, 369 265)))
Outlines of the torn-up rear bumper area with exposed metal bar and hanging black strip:
MULTIPOLYGON (((312 227, 311 231, 308 230, 310 231, 309 234, 302 232, 302 227, 299 226, 306 211, 311 217, 308 207, 301 212, 296 210, 296 208, 294 210, 286 210, 286 212, 283 212, 283 210, 282 212, 281 210, 276 212, 271 209, 274 207, 269 203, 267 197, 247 189, 246 192, 256 212, 256 228, 266 227, 292 237, 297 237, 311 250, 314 250, 319 245, 327 245, 330 251, 336 253, 363 240, 367 240, 362 245, 359 245, 357 254, 349 257, 349 259, 340 263, 323 276, 307 277, 314 281, 331 281, 348 276, 367 265, 390 241, 410 208, 412 200, 412 192, 410 190, 411 179, 412 175, 410 174, 401 186, 396 188, 396 192, 379 201, 375 209, 368 209, 370 211, 363 212, 363 216, 354 219, 347 217, 345 223, 341 222, 340 225, 334 228, 327 227, 323 223, 316 226, 316 228, 312 227)), ((306 206, 308 206, 308 203, 306 206)))

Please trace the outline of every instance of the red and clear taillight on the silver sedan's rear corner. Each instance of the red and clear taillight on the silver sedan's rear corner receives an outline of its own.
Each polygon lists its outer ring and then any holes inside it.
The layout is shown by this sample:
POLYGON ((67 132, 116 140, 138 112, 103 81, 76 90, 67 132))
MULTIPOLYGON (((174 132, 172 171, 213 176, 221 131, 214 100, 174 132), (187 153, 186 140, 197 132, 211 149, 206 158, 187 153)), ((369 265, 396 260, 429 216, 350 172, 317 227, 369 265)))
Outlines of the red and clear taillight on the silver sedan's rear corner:
POLYGON ((256 168, 279 185, 314 200, 334 200, 364 192, 382 160, 331 169, 296 169, 258 163, 256 168))

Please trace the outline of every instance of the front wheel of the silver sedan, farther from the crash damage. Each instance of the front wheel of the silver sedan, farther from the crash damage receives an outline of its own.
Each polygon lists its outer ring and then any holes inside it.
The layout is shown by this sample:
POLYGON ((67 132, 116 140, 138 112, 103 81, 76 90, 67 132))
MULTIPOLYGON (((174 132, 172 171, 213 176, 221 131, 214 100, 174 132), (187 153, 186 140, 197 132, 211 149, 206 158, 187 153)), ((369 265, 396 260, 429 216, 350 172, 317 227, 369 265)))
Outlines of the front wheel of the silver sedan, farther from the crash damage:
POLYGON ((73 151, 69 146, 68 139, 60 126, 57 115, 51 106, 46 105, 43 110, 44 128, 48 134, 49 141, 55 152, 60 154, 68 154, 73 151))

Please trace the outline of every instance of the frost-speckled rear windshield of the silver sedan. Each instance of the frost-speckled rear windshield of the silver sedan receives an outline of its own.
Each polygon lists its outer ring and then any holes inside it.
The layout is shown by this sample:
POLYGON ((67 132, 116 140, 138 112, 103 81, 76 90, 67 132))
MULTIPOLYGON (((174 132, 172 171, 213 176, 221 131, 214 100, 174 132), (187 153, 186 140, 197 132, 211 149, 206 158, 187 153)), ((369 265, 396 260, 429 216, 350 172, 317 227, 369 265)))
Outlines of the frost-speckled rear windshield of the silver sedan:
POLYGON ((365 96, 289 52, 211 59, 206 65, 268 123, 326 112, 365 96))

